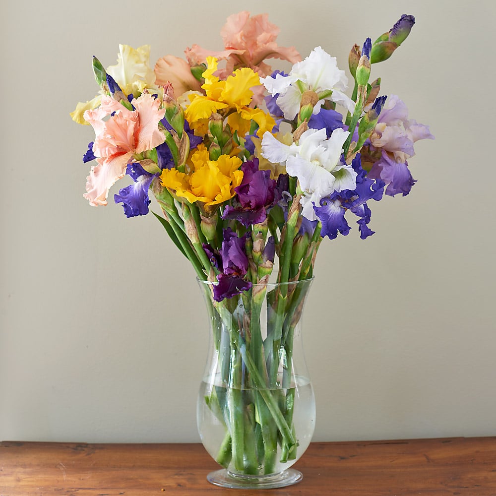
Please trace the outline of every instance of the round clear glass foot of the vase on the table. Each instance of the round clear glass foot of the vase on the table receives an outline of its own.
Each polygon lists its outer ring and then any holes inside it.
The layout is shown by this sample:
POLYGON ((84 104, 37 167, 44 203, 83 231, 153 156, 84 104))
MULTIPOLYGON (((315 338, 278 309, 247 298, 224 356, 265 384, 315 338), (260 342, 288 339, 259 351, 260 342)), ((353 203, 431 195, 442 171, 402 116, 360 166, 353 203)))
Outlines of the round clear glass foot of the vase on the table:
POLYGON ((239 475, 226 469, 216 470, 207 475, 207 481, 229 489, 275 489, 292 486, 303 479, 299 470, 289 468, 279 474, 239 475))

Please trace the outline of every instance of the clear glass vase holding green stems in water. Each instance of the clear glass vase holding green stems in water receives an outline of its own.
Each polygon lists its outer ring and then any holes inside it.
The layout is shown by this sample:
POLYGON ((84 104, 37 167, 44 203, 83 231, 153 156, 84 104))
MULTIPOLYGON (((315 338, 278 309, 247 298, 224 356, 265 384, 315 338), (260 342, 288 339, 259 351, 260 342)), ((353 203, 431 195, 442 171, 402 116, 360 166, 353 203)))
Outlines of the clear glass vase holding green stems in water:
POLYGON ((216 302, 213 284, 199 281, 211 334, 197 425, 224 467, 208 474, 212 484, 269 489, 303 477, 290 467, 315 427, 301 328, 311 282, 258 284, 216 302))

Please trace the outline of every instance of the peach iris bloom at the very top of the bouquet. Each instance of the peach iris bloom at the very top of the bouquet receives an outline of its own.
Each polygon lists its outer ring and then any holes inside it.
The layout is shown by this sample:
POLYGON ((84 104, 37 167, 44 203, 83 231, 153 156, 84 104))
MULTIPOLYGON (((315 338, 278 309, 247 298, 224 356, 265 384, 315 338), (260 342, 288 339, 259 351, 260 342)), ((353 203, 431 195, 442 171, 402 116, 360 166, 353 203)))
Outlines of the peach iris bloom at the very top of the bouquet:
POLYGON ((205 62, 207 57, 226 60, 226 68, 218 72, 224 78, 237 67, 250 67, 267 76, 272 72, 265 59, 282 59, 291 63, 300 62, 302 58, 294 47, 279 47, 276 43, 279 28, 268 21, 267 14, 250 17, 244 10, 230 15, 221 30, 225 50, 212 52, 198 45, 186 49, 186 58, 190 65, 205 62))

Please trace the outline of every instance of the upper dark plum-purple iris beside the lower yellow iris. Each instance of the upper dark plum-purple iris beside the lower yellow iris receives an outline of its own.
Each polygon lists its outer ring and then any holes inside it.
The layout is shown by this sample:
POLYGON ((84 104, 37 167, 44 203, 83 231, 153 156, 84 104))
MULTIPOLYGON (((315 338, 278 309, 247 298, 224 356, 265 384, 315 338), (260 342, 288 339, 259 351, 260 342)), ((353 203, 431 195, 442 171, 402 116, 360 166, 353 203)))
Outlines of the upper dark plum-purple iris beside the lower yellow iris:
POLYGON ((236 191, 235 206, 227 205, 222 217, 236 219, 244 226, 259 224, 267 217, 276 197, 276 182, 270 179, 270 171, 258 170, 258 159, 248 160, 242 166, 243 181, 236 191))

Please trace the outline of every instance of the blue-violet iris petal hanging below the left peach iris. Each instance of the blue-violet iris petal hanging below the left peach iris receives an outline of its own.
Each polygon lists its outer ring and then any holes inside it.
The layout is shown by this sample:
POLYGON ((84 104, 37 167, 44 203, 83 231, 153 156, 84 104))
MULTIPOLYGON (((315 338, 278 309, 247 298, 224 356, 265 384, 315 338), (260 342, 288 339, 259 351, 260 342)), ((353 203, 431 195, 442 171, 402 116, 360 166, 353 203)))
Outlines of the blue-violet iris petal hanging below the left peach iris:
POLYGON ((148 188, 154 174, 146 172, 138 162, 131 162, 127 164, 126 175, 130 176, 134 183, 120 189, 119 194, 114 195, 114 201, 123 204, 127 218, 146 215, 151 201, 148 188))

